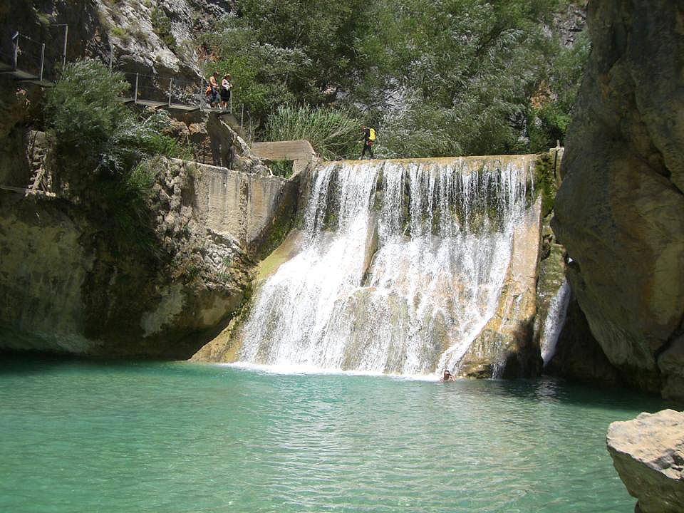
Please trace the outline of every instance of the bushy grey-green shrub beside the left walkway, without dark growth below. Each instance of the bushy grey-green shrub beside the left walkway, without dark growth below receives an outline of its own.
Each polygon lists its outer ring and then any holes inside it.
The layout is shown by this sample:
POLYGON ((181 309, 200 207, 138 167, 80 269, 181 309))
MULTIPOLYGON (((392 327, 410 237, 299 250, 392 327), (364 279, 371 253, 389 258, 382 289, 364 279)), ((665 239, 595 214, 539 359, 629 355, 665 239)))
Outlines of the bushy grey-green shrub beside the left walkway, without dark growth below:
POLYGON ((165 134, 170 126, 165 111, 138 115, 120 102, 128 88, 120 73, 81 60, 68 63, 48 93, 45 115, 55 172, 68 182, 71 194, 99 180, 125 180, 153 155, 189 155, 187 147, 165 134))

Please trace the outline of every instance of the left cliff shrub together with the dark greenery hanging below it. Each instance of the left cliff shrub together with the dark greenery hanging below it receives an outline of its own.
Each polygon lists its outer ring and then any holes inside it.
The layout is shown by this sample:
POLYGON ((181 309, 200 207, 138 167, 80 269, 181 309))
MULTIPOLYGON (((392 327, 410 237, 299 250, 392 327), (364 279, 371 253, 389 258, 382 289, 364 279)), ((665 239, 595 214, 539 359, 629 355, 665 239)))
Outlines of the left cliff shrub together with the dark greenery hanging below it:
POLYGON ((48 166, 60 196, 90 209, 127 242, 145 244, 147 196, 154 183, 146 160, 182 157, 166 135, 167 113, 135 113, 118 101, 128 83, 98 61, 68 63, 45 105, 48 166))

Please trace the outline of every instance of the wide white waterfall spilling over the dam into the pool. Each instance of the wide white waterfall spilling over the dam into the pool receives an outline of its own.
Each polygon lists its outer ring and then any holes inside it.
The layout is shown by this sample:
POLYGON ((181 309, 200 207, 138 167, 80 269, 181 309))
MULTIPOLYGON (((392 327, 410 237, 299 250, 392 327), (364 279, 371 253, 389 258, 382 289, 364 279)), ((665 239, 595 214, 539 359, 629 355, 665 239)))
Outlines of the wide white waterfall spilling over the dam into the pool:
POLYGON ((262 283, 239 360, 427 374, 492 316, 532 160, 330 162, 304 190, 296 254, 262 283))

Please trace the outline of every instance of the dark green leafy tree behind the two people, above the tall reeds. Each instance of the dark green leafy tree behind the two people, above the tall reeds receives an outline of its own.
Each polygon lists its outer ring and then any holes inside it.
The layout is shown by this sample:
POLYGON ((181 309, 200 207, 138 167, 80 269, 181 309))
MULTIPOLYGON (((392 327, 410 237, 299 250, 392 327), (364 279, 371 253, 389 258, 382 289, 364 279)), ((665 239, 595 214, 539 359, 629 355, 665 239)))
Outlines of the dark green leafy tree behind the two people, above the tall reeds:
POLYGON ((373 6, 363 0, 236 0, 234 13, 217 21, 201 42, 231 73, 234 105, 244 104, 261 126, 272 108, 286 103, 324 105, 356 86, 371 58, 356 48, 375 38, 373 6))

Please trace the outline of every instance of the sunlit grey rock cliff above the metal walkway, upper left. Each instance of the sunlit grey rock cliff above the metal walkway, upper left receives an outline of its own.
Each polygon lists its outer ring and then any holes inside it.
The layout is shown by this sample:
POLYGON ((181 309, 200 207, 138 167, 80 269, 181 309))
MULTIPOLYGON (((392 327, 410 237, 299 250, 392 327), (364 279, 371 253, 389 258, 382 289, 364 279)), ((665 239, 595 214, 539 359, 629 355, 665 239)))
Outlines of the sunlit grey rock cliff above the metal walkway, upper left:
MULTIPOLYGON (((112 58, 113 67, 121 71, 196 81, 201 70, 194 33, 222 19, 233 4, 231 0, 9 0, 0 6, 0 33, 21 31, 36 41, 55 41, 46 48, 48 78, 61 63, 64 33, 58 25, 68 24, 70 60, 112 58), (30 9, 27 3, 32 4, 30 9)), ((0 51, 11 53, 9 38, 2 38, 0 51)))

